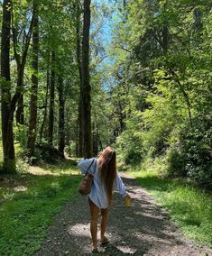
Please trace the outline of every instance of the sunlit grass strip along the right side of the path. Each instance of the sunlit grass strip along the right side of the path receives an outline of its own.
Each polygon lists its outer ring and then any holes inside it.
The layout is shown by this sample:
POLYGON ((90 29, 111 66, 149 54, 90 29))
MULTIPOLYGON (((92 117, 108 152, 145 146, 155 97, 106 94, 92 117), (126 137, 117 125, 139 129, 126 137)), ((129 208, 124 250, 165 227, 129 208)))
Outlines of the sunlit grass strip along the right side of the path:
POLYGON ((161 178, 153 171, 132 171, 137 182, 171 214, 187 237, 212 248, 212 197, 191 184, 161 178))

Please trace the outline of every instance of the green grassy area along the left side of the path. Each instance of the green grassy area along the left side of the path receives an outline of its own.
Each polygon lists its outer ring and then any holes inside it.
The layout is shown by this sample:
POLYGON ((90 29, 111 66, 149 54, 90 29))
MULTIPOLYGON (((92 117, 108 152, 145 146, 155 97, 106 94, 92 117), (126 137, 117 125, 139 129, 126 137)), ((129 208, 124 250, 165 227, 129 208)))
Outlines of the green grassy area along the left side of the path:
POLYGON ((69 198, 78 197, 76 174, 77 168, 65 160, 57 167, 40 167, 39 175, 1 176, 0 255, 32 255, 39 250, 55 215, 69 198))

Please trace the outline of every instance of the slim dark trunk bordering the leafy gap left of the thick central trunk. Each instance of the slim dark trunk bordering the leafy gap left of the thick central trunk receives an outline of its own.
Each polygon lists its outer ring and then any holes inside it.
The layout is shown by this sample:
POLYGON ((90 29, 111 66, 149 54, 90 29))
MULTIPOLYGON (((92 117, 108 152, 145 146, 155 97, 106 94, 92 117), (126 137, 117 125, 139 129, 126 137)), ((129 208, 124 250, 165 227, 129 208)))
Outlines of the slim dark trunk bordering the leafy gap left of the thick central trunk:
POLYGON ((59 152, 60 156, 64 158, 65 149, 65 96, 64 96, 64 84, 61 77, 59 77, 58 85, 59 95, 59 152))

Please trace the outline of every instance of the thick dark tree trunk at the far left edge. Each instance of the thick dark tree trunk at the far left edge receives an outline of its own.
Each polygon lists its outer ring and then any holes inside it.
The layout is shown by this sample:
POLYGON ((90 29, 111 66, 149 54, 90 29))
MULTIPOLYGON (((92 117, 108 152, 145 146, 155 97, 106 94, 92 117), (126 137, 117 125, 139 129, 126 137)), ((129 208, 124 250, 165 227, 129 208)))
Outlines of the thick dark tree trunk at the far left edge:
POLYGON ((3 140, 3 171, 15 172, 14 155, 14 112, 11 110, 10 84, 10 31, 11 31, 11 0, 4 0, 2 43, 1 43, 1 100, 2 100, 2 140, 3 140))

